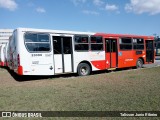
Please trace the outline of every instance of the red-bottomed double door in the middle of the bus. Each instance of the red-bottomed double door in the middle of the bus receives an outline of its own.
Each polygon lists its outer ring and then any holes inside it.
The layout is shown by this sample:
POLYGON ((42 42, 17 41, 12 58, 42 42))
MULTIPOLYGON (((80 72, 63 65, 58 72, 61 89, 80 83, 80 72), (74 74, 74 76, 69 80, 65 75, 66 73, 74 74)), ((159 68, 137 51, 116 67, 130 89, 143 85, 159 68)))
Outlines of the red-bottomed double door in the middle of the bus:
POLYGON ((106 38, 106 68, 116 68, 118 64, 117 39, 106 38))

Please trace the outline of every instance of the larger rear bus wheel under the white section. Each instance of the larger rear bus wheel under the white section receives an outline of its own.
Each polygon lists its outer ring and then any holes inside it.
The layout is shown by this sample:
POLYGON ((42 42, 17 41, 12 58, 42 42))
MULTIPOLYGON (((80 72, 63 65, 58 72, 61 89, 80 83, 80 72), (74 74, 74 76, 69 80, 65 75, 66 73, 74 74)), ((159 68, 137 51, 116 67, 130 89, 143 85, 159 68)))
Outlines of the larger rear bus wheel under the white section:
POLYGON ((91 67, 87 63, 80 63, 77 68, 79 76, 86 76, 91 73, 91 67))

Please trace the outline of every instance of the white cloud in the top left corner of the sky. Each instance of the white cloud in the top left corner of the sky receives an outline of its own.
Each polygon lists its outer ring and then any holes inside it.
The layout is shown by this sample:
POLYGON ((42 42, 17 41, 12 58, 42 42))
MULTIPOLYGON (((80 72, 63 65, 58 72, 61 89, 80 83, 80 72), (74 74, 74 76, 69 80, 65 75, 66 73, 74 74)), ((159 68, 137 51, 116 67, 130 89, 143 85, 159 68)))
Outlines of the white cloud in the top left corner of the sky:
POLYGON ((14 11, 17 9, 18 4, 15 2, 15 0, 0 0, 0 7, 14 11))

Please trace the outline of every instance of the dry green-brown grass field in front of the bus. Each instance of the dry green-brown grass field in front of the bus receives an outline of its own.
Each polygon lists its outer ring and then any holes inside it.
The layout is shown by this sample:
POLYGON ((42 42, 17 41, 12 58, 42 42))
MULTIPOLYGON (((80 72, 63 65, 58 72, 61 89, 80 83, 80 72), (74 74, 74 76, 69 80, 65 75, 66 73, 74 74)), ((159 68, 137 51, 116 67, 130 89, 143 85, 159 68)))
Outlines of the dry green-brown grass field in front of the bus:
POLYGON ((160 67, 21 81, 11 75, 0 68, 0 111, 160 111, 160 67))

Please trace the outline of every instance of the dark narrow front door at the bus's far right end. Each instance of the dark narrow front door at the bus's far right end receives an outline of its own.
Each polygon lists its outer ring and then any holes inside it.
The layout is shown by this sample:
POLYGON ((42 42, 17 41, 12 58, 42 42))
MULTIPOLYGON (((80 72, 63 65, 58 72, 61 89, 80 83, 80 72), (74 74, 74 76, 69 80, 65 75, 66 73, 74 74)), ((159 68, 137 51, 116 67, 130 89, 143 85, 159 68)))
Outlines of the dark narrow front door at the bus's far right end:
POLYGON ((146 62, 154 62, 154 43, 153 40, 146 40, 146 62))

